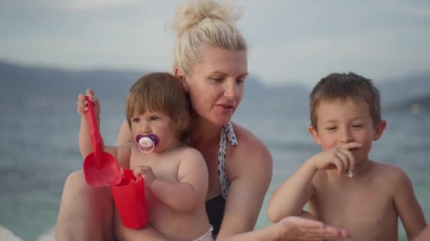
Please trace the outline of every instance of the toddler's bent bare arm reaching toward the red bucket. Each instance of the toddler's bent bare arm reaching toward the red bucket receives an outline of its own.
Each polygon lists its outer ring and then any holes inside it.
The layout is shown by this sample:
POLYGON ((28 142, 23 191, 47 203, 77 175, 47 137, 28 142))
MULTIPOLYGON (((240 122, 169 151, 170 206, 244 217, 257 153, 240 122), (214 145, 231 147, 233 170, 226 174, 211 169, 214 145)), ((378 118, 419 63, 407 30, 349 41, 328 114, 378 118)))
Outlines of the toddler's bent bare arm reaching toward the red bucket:
POLYGON ((209 174, 202 154, 196 149, 185 150, 180 159, 178 182, 156 178, 149 189, 172 209, 191 211, 206 199, 209 174))

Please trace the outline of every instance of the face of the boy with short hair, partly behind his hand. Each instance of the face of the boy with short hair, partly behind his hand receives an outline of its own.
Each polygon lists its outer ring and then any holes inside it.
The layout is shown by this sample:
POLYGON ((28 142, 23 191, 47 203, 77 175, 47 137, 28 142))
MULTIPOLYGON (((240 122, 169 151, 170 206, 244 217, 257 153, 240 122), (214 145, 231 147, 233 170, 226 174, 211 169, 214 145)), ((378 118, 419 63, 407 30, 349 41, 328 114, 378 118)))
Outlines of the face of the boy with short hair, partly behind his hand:
POLYGON ((321 101, 316 116, 318 130, 309 128, 315 142, 323 151, 359 142, 362 146, 351 150, 357 163, 368 159, 372 141, 380 138, 386 125, 385 121, 373 125, 368 105, 362 100, 321 101))

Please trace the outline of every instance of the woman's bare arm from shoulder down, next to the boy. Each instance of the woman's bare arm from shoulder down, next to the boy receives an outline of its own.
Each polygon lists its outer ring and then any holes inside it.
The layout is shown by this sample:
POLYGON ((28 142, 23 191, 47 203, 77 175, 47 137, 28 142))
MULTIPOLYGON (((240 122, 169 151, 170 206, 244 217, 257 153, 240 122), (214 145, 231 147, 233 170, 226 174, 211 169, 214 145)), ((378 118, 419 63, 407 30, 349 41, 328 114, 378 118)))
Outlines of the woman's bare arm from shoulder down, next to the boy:
MULTIPOLYGON (((272 156, 267 147, 248 130, 238 125, 234 128, 238 146, 228 147, 232 148, 226 156, 226 175, 230 186, 217 240, 254 229, 272 179, 272 156)), ((265 230, 260 230, 253 235, 263 237, 266 234, 265 230)), ((247 235, 240 236, 245 238, 247 235)))

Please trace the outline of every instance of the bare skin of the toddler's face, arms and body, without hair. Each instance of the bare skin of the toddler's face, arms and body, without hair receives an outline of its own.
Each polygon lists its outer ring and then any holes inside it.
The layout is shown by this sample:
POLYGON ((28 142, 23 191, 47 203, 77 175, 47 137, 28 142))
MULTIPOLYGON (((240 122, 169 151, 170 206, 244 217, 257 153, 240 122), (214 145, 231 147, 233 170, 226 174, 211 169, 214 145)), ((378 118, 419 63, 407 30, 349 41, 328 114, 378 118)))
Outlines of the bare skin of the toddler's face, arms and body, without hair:
MULTIPOLYGON (((93 99, 98 114, 98 99, 91 89, 87 95, 93 99)), ((91 152, 88 123, 84 117, 88 110, 86 104, 80 95, 77 105, 83 116, 79 134, 83 155, 91 152)), ((144 178, 149 223, 141 229, 125 229, 114 209, 113 224, 119 227, 114 230, 115 236, 120 240, 142 236, 151 240, 151 233, 156 233, 156 240, 193 240, 207 233, 210 224, 204 200, 208 173, 202 154, 180 142, 173 121, 161 111, 134 113, 130 123, 132 138, 118 147, 105 146, 105 151, 115 156, 120 166, 144 178), (153 152, 144 154, 139 150, 136 136, 148 134, 156 135, 159 142, 153 152), (158 238, 160 235, 163 238, 158 238)))

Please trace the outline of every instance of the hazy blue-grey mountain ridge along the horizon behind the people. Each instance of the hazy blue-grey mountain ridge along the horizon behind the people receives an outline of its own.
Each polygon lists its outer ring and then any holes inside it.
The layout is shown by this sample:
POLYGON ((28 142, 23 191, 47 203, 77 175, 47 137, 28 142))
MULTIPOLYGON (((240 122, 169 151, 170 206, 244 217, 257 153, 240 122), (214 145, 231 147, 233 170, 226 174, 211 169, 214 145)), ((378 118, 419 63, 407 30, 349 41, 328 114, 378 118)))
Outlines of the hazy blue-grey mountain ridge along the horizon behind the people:
MULTIPOLYGON (((74 103, 79 93, 91 87, 100 99, 123 103, 127 90, 147 70, 64 70, 20 66, 0 61, 0 108, 8 106, 45 106, 50 101, 74 103)), ((267 86, 250 76, 245 81, 243 105, 258 102, 294 107, 307 111, 310 87, 303 85, 267 86)), ((430 96, 430 74, 376 82, 383 106, 402 105, 405 101, 430 96)), ((105 101, 104 101, 105 102, 105 101)), ((115 102, 115 103, 116 103, 115 102)), ((69 108, 69 106, 67 106, 69 108)), ((1 109, 0 109, 1 111, 1 109)))

